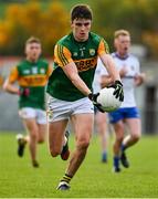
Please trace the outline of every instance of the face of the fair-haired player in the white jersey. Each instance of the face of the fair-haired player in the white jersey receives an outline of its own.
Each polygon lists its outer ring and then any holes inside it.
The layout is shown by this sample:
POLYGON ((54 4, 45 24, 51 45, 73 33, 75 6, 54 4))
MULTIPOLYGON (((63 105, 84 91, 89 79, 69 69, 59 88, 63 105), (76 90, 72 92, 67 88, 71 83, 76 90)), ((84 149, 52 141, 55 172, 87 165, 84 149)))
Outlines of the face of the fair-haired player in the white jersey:
POLYGON ((115 48, 116 51, 122 54, 125 55, 128 53, 129 48, 130 48, 130 36, 128 35, 119 35, 116 40, 115 40, 115 48))

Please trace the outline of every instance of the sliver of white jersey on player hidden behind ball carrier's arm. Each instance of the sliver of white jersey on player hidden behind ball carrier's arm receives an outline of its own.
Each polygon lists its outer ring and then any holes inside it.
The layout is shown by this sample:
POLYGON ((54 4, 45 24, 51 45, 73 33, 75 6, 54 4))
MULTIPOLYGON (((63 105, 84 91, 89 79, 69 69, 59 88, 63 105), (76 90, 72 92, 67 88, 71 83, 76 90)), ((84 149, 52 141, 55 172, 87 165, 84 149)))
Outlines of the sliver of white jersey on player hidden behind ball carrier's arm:
POLYGON ((101 59, 97 59, 97 66, 95 70, 95 75, 93 80, 93 93, 98 93, 101 91, 101 75, 103 75, 103 72, 106 72, 106 69, 104 64, 102 63, 101 59))

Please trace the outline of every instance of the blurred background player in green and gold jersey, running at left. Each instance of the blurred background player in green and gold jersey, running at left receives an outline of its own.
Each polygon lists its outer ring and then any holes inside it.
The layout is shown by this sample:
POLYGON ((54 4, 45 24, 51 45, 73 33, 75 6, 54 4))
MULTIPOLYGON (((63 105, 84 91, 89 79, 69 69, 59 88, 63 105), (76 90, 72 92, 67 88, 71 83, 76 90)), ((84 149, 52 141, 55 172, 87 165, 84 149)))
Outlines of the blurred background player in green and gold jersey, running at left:
POLYGON ((25 60, 21 61, 11 70, 3 84, 3 88, 20 96, 19 115, 29 136, 18 135, 18 155, 23 156, 24 147, 29 142, 33 167, 39 167, 36 160, 36 144, 43 143, 46 133, 45 114, 45 85, 52 72, 49 63, 40 55, 42 53, 41 41, 30 38, 25 42, 25 60), (18 81, 19 87, 14 85, 18 81))

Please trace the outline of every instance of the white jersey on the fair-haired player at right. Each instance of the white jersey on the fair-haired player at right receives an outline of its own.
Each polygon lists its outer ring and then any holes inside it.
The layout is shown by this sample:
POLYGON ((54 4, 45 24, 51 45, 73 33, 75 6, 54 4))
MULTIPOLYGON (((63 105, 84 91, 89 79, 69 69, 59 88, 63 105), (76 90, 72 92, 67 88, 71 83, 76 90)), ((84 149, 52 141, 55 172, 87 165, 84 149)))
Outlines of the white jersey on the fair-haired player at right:
POLYGON ((135 76, 140 73, 139 61, 133 54, 128 54, 125 59, 120 59, 117 53, 113 53, 112 56, 118 71, 123 67, 127 70, 126 75, 122 77, 124 86, 124 102, 120 107, 135 107, 135 76))

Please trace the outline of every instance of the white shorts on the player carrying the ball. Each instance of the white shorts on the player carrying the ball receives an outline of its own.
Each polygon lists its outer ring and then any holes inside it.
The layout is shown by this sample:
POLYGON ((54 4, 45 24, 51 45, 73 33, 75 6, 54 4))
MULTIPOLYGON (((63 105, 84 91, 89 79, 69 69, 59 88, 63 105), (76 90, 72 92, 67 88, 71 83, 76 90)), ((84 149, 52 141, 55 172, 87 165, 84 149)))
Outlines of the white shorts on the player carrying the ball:
POLYGON ((94 106, 87 97, 67 102, 50 96, 48 105, 48 121, 50 123, 69 119, 71 115, 94 114, 94 106))

